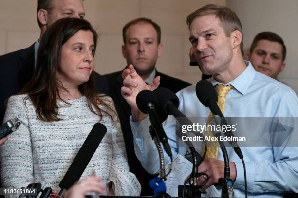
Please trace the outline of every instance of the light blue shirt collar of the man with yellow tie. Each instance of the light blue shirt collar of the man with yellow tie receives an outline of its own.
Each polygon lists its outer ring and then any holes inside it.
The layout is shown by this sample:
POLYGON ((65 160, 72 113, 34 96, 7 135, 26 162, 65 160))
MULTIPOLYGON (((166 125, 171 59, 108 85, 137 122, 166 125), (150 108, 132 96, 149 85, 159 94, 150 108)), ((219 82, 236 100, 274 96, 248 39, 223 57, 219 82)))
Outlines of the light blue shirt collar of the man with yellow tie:
MULTIPOLYGON (((249 61, 245 61, 245 64, 247 65, 246 69, 236 79, 224 84, 225 86, 232 85, 242 95, 245 94, 256 74, 256 70, 249 61)), ((215 80, 213 77, 210 79, 210 82, 213 86, 223 84, 215 80)))

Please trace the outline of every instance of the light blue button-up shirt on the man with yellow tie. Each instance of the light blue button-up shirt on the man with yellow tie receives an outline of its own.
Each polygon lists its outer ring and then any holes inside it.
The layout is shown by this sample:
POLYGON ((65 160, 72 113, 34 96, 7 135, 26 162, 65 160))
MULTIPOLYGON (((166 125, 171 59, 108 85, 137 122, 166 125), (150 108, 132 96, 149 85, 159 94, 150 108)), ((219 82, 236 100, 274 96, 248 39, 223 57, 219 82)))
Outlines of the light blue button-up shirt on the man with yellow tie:
MULTIPOLYGON (((296 93, 288 86, 254 70, 249 62, 247 68, 233 81, 233 85, 226 96, 225 117, 298 117, 298 98, 296 93)), ((219 82, 211 78, 209 81, 215 86, 219 82)), ((199 102, 195 93, 195 85, 179 91, 179 110, 187 117, 207 118, 210 110, 199 102)), ((157 150, 148 132, 149 118, 142 122, 130 123, 134 138, 136 155, 143 167, 149 173, 159 170, 159 157, 157 150)), ((175 135, 176 121, 173 116, 163 123, 172 148, 173 156, 180 153, 186 154, 186 147, 179 147, 175 135)), ((257 124, 256 124, 257 125, 257 124)), ((297 124, 296 124, 297 125, 297 124)), ((253 126, 256 129, 262 126, 253 126)), ((245 131, 244 133, 250 133, 245 131)), ((287 138, 286 147, 259 146, 242 147, 247 173, 247 186, 249 197, 273 198, 282 197, 284 191, 298 192, 298 139, 297 128, 292 131, 292 136, 287 138), (297 141, 297 142, 296 142, 297 141), (297 146, 297 147, 295 147, 297 146)), ((258 135, 258 134, 257 134, 258 135)), ((201 148, 198 148, 201 149, 201 148)), ((198 150, 200 153, 200 150, 198 150)), ((227 147, 230 162, 235 162, 237 177, 234 183, 236 197, 244 197, 243 166, 233 148, 227 147)), ((166 163, 170 162, 164 154, 166 163)), ((218 159, 223 160, 221 150, 218 159)), ((221 187, 217 186, 221 191, 221 187)))

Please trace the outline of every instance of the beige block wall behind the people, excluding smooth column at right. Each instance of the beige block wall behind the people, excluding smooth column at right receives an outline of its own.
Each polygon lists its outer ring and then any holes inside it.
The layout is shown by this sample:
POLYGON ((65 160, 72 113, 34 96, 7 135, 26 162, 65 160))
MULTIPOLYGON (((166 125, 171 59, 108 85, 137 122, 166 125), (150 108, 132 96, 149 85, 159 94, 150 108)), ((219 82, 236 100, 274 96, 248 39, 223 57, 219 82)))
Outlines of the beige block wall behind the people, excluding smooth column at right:
MULTIPOLYGON (((162 30, 163 55, 157 69, 196 83, 197 67, 190 67, 186 16, 208 3, 225 0, 85 0, 86 19, 101 33, 95 55, 95 70, 106 74, 126 65, 121 54, 122 28, 132 19, 148 17, 162 30)), ((0 55, 30 46, 39 37, 37 0, 0 1, 0 55)))

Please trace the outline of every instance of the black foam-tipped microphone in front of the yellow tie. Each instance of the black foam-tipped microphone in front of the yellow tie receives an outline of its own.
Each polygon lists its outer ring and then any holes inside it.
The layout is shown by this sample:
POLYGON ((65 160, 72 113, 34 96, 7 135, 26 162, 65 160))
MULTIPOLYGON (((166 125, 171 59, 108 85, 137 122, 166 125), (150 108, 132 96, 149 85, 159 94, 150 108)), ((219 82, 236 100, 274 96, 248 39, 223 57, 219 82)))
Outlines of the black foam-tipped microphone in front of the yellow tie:
MULTIPOLYGON (((213 115, 218 115, 221 118, 221 125, 227 125, 227 121, 225 120, 223 113, 219 106, 217 105, 217 92, 211 82, 207 80, 201 80, 196 85, 196 94, 200 102, 209 107, 210 111, 213 115)), ((224 133, 227 137, 232 137, 233 133, 231 130, 228 130, 224 133)), ((232 138, 231 138, 232 139, 232 138)), ((228 141, 229 144, 234 148, 234 151, 239 156, 240 159, 243 158, 243 154, 241 149, 239 148, 237 141, 228 141)))

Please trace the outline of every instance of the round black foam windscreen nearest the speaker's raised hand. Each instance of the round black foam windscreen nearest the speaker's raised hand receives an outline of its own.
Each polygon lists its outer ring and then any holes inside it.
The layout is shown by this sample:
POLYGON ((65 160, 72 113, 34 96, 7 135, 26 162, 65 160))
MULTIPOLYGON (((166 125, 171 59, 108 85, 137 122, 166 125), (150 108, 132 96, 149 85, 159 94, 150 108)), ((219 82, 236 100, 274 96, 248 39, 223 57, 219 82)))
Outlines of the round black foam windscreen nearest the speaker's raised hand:
POLYGON ((155 108, 158 106, 158 99, 152 91, 150 90, 140 91, 140 93, 138 93, 136 97, 136 103, 138 108, 144 114, 147 114, 149 102, 152 103, 155 106, 155 108))

